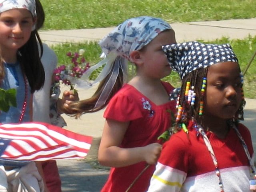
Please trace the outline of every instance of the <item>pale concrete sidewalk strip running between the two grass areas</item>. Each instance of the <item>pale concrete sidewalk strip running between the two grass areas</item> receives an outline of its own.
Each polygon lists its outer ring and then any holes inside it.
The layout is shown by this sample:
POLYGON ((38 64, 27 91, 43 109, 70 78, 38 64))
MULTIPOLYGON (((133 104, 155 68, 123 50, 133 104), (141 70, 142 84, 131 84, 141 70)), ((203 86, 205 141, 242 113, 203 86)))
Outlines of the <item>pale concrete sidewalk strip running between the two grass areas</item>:
MULTIPOLYGON (((190 40, 215 40, 223 36, 231 39, 246 38, 256 35, 256 18, 204 21, 188 23, 172 23, 177 42, 190 40)), ((78 30, 40 31, 42 41, 48 45, 63 42, 84 42, 100 40, 111 32, 114 27, 78 30)))

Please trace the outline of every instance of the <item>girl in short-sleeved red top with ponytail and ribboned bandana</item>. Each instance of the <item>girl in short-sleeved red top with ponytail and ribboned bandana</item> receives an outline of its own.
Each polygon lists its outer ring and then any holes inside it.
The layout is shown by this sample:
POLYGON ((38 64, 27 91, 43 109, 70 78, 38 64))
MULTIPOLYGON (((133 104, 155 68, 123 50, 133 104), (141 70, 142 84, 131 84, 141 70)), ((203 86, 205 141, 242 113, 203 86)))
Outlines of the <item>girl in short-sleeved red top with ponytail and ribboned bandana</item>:
POLYGON ((106 64, 92 83, 101 83, 94 102, 81 100, 76 105, 78 112, 86 113, 108 104, 98 160, 112 168, 102 192, 126 191, 146 164, 152 164, 129 192, 145 192, 148 188, 162 149, 157 138, 170 127, 170 111, 175 109, 175 102, 169 100, 174 88, 161 81, 172 70, 162 45, 173 43, 174 30, 162 19, 128 19, 100 41, 106 58, 82 77, 88 80, 95 68, 106 64), (136 75, 124 84, 128 61, 135 64, 136 75))

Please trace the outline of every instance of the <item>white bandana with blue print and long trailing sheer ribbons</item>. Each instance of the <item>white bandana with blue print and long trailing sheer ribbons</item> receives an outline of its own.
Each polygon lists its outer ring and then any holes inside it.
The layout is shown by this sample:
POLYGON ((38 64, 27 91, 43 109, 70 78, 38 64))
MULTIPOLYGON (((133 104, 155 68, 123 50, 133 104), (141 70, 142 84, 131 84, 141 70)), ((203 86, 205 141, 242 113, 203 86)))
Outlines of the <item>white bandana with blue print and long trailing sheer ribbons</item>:
POLYGON ((108 81, 104 84, 104 90, 94 106, 94 108, 98 108, 105 104, 116 82, 120 69, 124 76, 123 82, 126 82, 128 73, 127 63, 130 59, 130 53, 134 50, 140 50, 149 44, 158 34, 167 29, 172 29, 170 24, 160 18, 140 16, 124 21, 99 43, 106 58, 87 70, 81 77, 81 80, 74 81, 70 78, 70 81, 78 84, 80 87, 89 88, 101 82, 109 75, 108 81), (105 66, 96 80, 94 82, 88 82, 90 74, 103 65, 105 66))

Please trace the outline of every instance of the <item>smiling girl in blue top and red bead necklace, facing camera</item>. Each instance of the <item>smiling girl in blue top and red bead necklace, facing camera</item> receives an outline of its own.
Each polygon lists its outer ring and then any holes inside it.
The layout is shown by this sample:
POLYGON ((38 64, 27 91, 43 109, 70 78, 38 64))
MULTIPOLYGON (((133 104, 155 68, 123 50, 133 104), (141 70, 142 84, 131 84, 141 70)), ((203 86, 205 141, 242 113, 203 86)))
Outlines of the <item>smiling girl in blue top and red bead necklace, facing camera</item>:
MULTIPOLYGON (((0 0, 0 88, 17 92, 17 107, 1 111, 1 123, 32 121, 32 93, 44 84, 35 24, 34 0, 0 0)), ((2 191, 44 190, 34 162, 0 159, 0 170, 2 191)))

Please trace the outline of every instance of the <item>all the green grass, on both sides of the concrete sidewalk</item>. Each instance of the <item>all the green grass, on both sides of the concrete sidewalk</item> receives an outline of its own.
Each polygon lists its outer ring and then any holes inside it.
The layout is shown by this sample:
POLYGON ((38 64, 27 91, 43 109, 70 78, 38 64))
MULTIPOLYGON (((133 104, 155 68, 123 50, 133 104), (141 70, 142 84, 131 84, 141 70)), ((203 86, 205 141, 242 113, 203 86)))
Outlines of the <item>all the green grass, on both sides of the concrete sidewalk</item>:
MULTIPOLYGON (((124 20, 148 15, 172 22, 227 20, 256 18, 256 0, 41 0, 46 14, 43 30, 81 29, 116 26, 124 20)), ((256 50, 256 37, 243 40, 221 38, 205 43, 230 43, 238 56, 242 71, 256 50)), ((96 42, 62 44, 53 46, 59 64, 69 64, 66 52, 86 50, 86 60, 97 63, 101 49, 96 42)), ((256 59, 255 59, 256 60, 256 59)), ((244 92, 248 98, 256 98, 256 61, 245 75, 244 92)), ((94 77, 92 77, 94 78, 94 77)), ((175 72, 164 80, 180 86, 175 72)))

